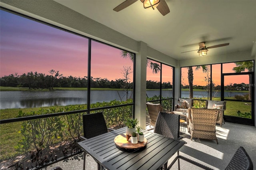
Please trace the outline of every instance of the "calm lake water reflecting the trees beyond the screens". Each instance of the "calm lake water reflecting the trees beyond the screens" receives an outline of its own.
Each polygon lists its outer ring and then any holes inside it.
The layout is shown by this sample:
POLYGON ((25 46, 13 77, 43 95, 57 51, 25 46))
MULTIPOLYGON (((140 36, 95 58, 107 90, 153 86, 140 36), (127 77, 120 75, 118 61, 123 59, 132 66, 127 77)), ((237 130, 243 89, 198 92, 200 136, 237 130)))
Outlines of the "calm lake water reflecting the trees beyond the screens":
MULTIPOLYGON (((232 93, 243 95, 245 93, 232 93)), ((129 92, 129 96, 131 92, 129 92)), ((148 97, 160 95, 160 91, 147 91, 148 97)), ((163 97, 172 97, 172 90, 163 91, 163 97)), ((226 93, 226 97, 230 94, 226 93)), ((189 91, 182 91, 181 97, 188 98, 189 91)), ((194 97, 207 97, 206 91, 194 91, 194 97)), ((216 95, 220 97, 220 92, 216 95)), ((91 91, 91 103, 126 100, 126 91, 91 91)), ((87 104, 87 91, 1 91, 0 109, 17 109, 47 106, 87 104)))

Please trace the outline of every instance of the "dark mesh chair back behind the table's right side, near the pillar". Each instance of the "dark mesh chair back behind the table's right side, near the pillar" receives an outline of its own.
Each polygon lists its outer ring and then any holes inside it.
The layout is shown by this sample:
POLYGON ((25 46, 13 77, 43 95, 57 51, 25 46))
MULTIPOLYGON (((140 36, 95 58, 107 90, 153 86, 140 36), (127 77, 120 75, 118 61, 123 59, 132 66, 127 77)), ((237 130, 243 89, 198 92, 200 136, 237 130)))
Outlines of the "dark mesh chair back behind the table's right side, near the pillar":
POLYGON ((160 112, 154 132, 173 139, 180 138, 180 115, 160 112))

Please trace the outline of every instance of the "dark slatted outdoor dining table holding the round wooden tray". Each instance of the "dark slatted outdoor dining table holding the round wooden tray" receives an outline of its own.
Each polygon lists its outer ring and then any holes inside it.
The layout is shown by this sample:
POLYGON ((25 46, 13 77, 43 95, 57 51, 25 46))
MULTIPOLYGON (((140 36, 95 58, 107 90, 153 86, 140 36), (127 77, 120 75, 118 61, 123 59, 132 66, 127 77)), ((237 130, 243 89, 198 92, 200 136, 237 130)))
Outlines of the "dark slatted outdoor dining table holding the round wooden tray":
MULTIPOLYGON (((158 170, 185 144, 160 134, 144 131, 148 143, 144 148, 127 150, 119 148, 114 138, 126 133, 120 128, 87 140, 78 142, 100 166, 108 170, 158 170)), ((85 160, 84 160, 85 161, 85 160)))

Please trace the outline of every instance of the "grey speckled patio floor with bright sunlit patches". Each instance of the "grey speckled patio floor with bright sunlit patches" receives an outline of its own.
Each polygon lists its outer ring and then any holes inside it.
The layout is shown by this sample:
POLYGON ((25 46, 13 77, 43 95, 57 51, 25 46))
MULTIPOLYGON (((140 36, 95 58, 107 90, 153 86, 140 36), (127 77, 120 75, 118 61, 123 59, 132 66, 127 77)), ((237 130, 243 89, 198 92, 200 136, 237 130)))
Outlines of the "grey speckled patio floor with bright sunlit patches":
MULTIPOLYGON (((180 155, 195 160, 215 170, 225 169, 228 162, 236 152, 239 146, 243 146, 252 159, 254 167, 256 167, 256 128, 248 125, 240 125, 235 123, 225 123, 220 127, 216 125, 216 134, 219 144, 215 140, 204 140, 193 138, 190 140, 190 135, 186 129, 181 140, 186 144, 180 149, 180 155)), ((174 155, 168 165, 174 159, 174 155)), ((60 166, 63 170, 82 170, 83 168, 83 153, 77 156, 70 157, 66 160, 56 162, 41 170, 50 170, 54 166, 60 166)), ((182 170, 200 169, 188 162, 180 160, 182 170)), ((96 170, 97 164, 91 156, 86 157, 86 169, 96 170)), ((178 169, 177 163, 172 169, 178 169)))

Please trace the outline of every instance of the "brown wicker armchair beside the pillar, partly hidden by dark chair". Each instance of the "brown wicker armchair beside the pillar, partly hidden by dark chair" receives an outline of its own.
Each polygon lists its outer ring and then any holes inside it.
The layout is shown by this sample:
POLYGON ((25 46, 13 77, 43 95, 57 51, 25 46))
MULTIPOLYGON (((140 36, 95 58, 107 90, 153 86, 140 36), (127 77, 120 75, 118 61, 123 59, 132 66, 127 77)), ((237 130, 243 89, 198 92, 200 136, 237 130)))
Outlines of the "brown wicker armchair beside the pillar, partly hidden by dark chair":
POLYGON ((163 107, 160 104, 146 103, 148 108, 148 114, 150 117, 149 127, 155 127, 156 119, 158 117, 158 113, 163 111, 163 107))

